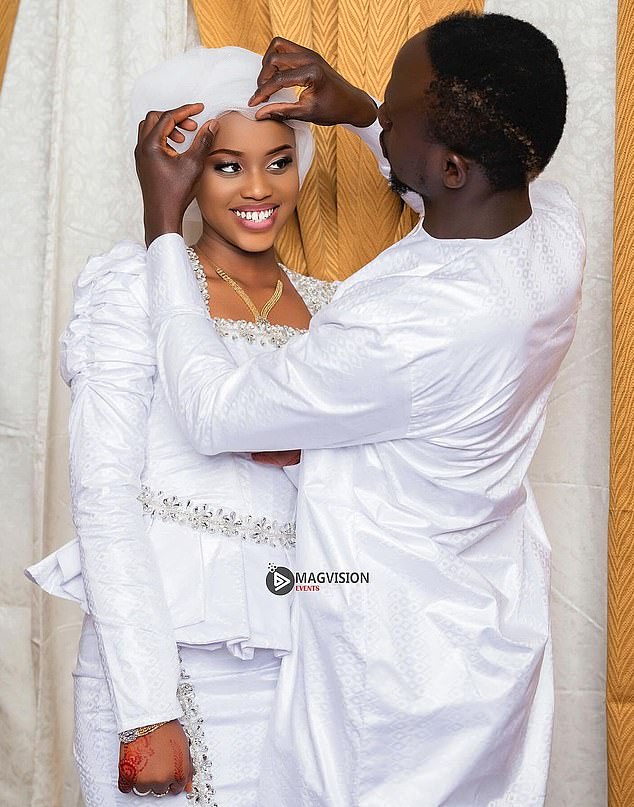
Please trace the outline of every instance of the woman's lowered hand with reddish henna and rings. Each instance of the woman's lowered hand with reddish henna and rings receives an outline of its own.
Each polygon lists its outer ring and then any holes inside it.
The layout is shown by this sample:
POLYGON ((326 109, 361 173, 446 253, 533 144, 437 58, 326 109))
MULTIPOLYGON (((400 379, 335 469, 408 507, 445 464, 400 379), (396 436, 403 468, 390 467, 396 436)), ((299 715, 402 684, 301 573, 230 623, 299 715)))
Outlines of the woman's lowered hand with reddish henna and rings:
POLYGON ((189 741, 178 720, 119 748, 119 790, 139 794, 191 793, 189 741))

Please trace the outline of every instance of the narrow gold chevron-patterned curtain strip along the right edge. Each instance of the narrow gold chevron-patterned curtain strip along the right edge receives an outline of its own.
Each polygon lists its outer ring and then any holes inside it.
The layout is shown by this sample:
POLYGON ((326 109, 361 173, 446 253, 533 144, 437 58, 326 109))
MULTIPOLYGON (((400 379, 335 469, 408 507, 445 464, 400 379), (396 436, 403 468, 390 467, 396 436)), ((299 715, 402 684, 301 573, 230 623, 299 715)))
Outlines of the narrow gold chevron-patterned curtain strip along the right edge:
POLYGON ((610 807, 634 804, 634 5, 617 38, 612 454, 608 564, 610 807))

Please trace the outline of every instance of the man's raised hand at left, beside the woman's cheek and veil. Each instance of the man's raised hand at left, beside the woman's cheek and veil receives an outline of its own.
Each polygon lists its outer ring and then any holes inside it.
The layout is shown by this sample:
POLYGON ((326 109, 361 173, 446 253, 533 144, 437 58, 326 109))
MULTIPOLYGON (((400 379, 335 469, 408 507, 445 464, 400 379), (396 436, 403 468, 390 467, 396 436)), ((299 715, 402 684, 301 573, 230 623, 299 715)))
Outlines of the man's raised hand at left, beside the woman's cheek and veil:
POLYGON ((202 104, 186 104, 167 112, 149 112, 139 124, 134 157, 143 193, 148 246, 163 233, 182 231, 183 215, 196 195, 218 124, 215 120, 207 121, 182 154, 167 141, 169 138, 182 143, 184 136, 179 128, 196 129, 197 124, 190 116, 202 112, 203 108, 202 104))

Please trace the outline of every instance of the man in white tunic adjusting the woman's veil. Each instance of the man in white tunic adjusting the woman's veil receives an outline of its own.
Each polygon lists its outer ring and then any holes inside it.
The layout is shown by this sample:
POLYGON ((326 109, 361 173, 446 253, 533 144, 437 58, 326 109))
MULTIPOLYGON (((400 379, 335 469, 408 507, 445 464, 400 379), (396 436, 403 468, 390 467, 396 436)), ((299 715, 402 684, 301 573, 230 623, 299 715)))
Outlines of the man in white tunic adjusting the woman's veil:
POLYGON ((533 183, 563 130, 563 67, 528 23, 460 14, 405 43, 378 125, 369 96, 274 40, 253 102, 294 85, 296 105, 258 117, 380 139, 425 216, 275 353, 233 365, 179 235, 212 128, 174 157, 166 137, 191 110, 154 115, 137 151, 179 422, 203 453, 301 448, 298 569, 370 578, 295 595, 258 804, 537 807, 549 547, 526 475, 584 263, 574 203, 533 183))

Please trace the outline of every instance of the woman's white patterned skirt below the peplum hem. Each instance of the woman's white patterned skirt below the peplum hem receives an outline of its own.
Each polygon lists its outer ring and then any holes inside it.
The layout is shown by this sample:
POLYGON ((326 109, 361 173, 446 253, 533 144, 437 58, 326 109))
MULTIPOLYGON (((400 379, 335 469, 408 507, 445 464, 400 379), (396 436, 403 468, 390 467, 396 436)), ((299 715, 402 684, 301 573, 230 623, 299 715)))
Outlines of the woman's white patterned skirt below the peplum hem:
MULTIPOLYGON (((219 807, 258 807, 257 784, 280 659, 256 650, 243 660, 224 650, 181 648, 183 666, 203 717, 212 785, 219 807)), ((154 800, 117 789, 119 738, 90 618, 74 673, 73 750, 86 807, 147 807, 154 800)), ((169 805, 191 805, 184 793, 169 805)))

